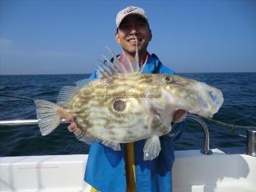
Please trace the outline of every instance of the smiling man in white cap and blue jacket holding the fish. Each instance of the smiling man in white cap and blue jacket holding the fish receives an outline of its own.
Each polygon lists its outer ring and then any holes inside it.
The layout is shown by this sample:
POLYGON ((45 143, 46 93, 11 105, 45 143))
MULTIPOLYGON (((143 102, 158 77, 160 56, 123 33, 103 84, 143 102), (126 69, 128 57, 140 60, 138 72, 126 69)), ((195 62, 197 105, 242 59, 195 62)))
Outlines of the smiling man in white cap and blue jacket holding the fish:
MULTIPOLYGON (((123 9, 117 14, 116 25, 115 40, 130 61, 135 62, 136 43, 140 65, 147 60, 143 73, 174 74, 171 69, 163 66, 155 54, 148 53, 152 33, 148 17, 142 8, 130 6, 123 9)), ((118 59, 125 63, 123 54, 118 59)), ((96 72, 90 76, 90 79, 94 78, 98 78, 96 72)), ((84 175, 84 181, 92 186, 91 191, 172 191, 173 138, 177 139, 184 129, 184 122, 175 121, 184 113, 185 111, 179 110, 174 114, 172 132, 160 137, 162 150, 154 160, 143 160, 145 140, 120 144, 121 151, 114 151, 102 144, 91 145, 84 175)), ((67 117, 67 120, 72 120, 72 117, 67 117)), ((79 129, 72 123, 69 130, 79 129)))

